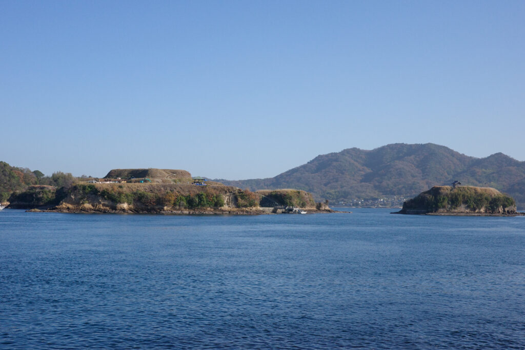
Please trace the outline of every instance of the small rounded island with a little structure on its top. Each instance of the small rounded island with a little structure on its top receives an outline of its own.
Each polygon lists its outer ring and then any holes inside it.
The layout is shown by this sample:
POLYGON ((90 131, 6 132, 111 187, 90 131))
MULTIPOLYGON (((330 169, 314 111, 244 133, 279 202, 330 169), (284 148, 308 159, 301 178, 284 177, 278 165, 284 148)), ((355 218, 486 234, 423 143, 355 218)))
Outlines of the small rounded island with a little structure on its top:
POLYGON ((516 201, 495 188, 475 186, 434 186, 403 203, 392 214, 516 216, 516 201))

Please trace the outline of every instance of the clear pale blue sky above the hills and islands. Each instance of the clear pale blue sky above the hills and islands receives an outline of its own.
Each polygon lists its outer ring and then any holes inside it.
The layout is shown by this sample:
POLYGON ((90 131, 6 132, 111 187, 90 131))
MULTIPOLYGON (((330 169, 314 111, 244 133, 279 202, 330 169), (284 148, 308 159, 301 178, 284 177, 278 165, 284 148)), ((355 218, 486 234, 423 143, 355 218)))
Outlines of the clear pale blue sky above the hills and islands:
POLYGON ((525 1, 0 0, 0 160, 272 177, 350 147, 525 161, 525 1))

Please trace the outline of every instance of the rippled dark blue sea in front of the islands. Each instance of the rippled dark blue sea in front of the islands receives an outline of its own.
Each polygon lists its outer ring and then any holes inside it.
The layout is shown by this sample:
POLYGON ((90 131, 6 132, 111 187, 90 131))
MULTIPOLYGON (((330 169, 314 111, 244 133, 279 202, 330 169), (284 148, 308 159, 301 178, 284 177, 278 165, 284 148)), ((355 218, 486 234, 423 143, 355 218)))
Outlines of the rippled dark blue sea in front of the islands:
POLYGON ((0 211, 0 348, 525 348, 525 217, 0 211))

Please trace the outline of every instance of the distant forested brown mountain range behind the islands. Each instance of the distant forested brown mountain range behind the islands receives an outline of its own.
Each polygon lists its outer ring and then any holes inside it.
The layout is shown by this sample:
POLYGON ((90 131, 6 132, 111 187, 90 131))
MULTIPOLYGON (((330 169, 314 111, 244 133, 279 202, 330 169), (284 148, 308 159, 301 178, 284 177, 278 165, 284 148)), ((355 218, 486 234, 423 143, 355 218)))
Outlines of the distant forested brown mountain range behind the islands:
POLYGON ((226 185, 250 190, 296 188, 317 200, 352 203, 355 199, 413 197, 435 185, 453 181, 494 187, 525 207, 525 162, 503 153, 470 157, 432 143, 396 143, 374 150, 358 148, 323 154, 275 177, 229 181, 226 185))

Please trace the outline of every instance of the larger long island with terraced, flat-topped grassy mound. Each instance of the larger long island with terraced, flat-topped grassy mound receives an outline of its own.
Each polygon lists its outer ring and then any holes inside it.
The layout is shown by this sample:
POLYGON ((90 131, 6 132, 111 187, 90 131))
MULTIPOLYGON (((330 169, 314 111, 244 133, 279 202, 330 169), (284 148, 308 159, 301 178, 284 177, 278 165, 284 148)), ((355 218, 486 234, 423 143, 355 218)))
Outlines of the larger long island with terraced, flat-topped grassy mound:
POLYGON ((331 213, 297 189, 251 192, 180 169, 112 169, 104 178, 68 186, 34 185, 9 198, 9 208, 59 213, 280 214, 331 213))

